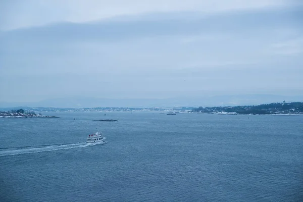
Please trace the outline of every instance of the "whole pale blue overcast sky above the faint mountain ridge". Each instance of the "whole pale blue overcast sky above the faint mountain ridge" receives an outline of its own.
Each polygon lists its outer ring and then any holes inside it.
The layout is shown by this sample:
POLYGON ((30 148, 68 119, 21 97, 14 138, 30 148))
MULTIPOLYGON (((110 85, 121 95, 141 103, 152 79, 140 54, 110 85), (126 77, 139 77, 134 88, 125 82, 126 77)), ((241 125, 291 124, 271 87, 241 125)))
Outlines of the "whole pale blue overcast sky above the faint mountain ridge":
POLYGON ((0 1, 0 102, 303 95, 291 0, 0 1))

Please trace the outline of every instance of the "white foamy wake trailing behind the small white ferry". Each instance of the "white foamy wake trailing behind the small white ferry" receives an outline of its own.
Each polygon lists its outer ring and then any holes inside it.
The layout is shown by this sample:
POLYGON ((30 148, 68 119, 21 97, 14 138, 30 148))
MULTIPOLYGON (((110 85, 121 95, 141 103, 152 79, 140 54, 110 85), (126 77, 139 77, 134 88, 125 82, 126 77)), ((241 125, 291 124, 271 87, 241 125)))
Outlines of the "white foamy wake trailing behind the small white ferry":
POLYGON ((0 157, 1 156, 3 157, 3 156, 12 156, 12 155, 31 154, 31 153, 40 153, 40 152, 44 152, 44 151, 54 151, 54 150, 70 149, 70 148, 78 148, 78 147, 86 147, 86 146, 92 146, 92 145, 102 144, 102 143, 104 143, 104 142, 7 147, 7 148, 0 148, 0 157))

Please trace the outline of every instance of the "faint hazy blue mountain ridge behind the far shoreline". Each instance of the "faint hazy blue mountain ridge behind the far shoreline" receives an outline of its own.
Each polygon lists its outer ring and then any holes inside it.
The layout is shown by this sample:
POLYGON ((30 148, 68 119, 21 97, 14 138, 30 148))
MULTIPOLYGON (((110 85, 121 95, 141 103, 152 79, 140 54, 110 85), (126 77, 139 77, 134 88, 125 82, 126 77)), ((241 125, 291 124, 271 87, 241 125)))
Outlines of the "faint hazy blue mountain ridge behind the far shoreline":
POLYGON ((88 108, 88 107, 213 107, 213 106, 240 106, 260 105, 270 103, 303 102, 303 95, 217 95, 174 98, 98 98, 98 97, 67 97, 46 99, 33 103, 5 103, 0 102, 0 108, 14 107, 55 107, 55 108, 88 108))

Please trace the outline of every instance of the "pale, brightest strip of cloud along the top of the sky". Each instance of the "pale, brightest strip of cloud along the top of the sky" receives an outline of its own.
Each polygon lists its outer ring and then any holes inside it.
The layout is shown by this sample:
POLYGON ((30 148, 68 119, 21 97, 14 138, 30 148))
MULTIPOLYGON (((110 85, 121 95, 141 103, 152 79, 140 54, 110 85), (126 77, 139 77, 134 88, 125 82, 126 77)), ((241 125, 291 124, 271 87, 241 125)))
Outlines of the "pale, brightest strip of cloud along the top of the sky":
POLYGON ((292 2, 289 0, 1 1, 0 30, 42 26, 58 22, 83 23, 148 13, 189 11, 208 15, 229 11, 285 7, 292 2))

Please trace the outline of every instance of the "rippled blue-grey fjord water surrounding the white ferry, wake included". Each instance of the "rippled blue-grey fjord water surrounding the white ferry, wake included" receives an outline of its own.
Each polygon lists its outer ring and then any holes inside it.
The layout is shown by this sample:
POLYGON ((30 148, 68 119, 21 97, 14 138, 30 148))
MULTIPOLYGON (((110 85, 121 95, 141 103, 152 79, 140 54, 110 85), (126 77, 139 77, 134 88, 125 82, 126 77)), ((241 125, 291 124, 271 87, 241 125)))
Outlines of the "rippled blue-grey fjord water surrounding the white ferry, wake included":
POLYGON ((303 116, 44 114, 0 119, 0 201, 303 199, 303 116))

